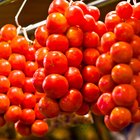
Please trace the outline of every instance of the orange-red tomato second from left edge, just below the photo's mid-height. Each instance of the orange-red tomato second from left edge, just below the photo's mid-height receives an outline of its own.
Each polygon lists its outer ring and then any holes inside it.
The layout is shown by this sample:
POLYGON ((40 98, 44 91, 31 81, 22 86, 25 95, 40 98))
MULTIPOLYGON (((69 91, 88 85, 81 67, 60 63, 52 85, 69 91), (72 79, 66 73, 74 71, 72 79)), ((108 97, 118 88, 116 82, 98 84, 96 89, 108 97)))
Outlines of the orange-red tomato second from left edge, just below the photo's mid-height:
POLYGON ((13 70, 10 72, 8 79, 11 86, 22 88, 25 81, 25 74, 21 70, 13 70))

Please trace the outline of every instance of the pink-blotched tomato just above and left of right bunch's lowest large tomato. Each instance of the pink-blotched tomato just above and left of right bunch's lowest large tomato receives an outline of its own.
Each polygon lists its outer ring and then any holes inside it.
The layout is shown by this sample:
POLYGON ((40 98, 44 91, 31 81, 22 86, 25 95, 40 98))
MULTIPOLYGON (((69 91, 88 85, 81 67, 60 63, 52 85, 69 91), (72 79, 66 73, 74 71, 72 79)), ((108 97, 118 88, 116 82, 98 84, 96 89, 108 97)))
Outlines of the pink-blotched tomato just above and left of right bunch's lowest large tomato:
POLYGON ((97 100, 97 106, 103 115, 108 115, 116 104, 110 93, 103 93, 97 100))

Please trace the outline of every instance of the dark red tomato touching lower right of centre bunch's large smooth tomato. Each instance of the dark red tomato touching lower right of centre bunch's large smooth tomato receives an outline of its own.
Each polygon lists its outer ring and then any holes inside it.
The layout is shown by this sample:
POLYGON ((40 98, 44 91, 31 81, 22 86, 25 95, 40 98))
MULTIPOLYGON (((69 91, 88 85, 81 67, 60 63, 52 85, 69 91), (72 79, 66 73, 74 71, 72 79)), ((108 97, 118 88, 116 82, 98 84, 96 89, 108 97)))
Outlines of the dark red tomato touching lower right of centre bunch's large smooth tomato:
POLYGON ((70 89, 64 97, 60 99, 59 106, 64 112, 77 111, 83 102, 82 94, 77 89, 70 89))

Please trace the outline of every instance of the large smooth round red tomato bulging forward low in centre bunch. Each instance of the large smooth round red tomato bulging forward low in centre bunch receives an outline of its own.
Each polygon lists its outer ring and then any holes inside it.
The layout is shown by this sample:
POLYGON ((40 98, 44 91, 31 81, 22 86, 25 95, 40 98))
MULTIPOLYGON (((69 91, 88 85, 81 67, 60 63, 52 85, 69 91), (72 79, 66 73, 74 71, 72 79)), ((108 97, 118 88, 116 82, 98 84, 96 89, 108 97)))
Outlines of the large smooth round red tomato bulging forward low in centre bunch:
POLYGON ((68 92, 68 80, 59 74, 49 74, 43 81, 43 89, 47 97, 57 99, 68 92))

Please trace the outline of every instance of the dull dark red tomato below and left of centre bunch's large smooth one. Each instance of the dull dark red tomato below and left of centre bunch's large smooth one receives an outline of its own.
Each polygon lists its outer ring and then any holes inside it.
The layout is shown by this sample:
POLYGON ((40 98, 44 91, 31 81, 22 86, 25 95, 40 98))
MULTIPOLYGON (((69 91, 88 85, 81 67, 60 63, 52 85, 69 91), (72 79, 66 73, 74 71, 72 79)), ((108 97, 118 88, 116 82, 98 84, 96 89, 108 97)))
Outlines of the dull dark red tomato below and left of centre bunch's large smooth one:
POLYGON ((40 112, 48 117, 57 117, 60 113, 60 108, 56 100, 50 99, 48 97, 42 97, 38 103, 40 112))

